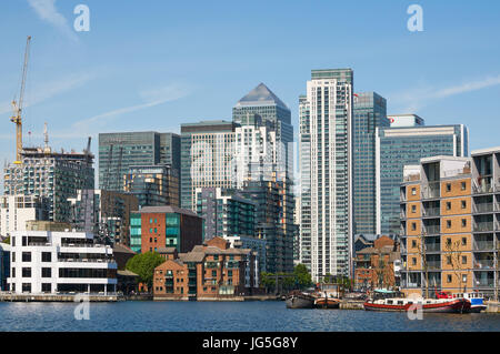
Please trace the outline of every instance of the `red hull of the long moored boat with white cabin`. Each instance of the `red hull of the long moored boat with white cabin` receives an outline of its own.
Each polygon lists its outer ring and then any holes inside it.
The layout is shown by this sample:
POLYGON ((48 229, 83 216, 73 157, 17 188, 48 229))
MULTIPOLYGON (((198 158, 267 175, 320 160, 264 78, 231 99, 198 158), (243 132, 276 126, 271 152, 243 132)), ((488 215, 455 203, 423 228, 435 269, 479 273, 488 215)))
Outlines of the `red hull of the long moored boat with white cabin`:
MULTIPOLYGON (((417 304, 417 303, 416 303, 417 304)), ((377 304, 372 302, 364 302, 363 306, 366 311, 387 311, 387 312, 407 312, 416 310, 416 304, 404 304, 404 305, 389 305, 389 304, 377 304)), ((432 304, 421 304, 422 312, 424 313, 469 313, 470 302, 464 299, 453 299, 447 302, 439 302, 432 304)))

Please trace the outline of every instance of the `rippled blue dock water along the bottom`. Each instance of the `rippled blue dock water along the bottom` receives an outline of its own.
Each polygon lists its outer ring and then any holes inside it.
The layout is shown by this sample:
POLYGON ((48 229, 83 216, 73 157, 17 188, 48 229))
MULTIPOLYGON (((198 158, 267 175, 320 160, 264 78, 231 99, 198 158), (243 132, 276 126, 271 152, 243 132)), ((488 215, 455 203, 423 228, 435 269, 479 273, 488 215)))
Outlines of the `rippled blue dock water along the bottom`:
POLYGON ((349 310, 289 310, 284 302, 90 303, 90 320, 74 318, 76 303, 0 303, 0 331, 500 331, 500 314, 423 314, 349 310))

